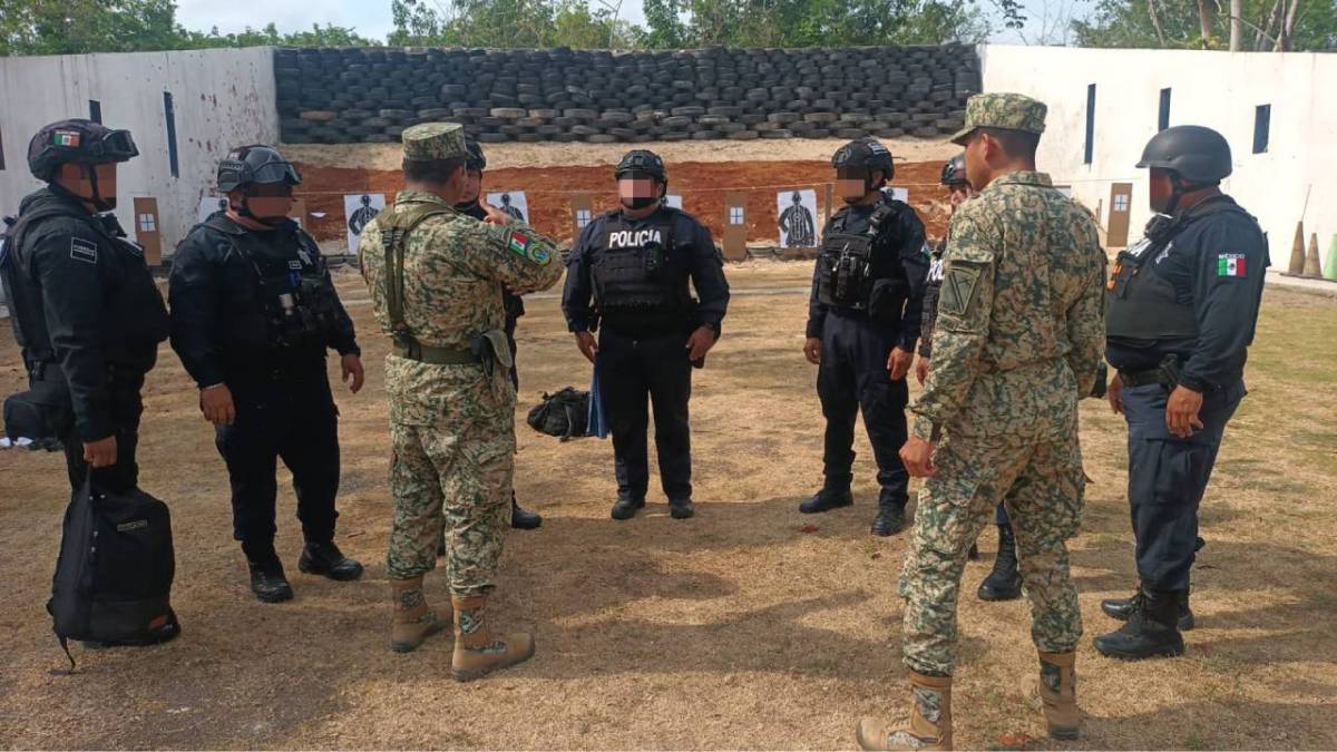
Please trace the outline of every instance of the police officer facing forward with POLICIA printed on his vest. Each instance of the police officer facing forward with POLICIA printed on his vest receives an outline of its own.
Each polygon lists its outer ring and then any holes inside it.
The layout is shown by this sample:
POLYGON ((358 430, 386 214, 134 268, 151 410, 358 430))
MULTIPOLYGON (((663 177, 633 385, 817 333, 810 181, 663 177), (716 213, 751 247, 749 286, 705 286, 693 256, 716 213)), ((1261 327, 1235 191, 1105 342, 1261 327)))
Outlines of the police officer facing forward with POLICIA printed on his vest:
POLYGON ((719 339, 729 282, 710 230, 664 206, 668 178, 658 155, 628 151, 614 174, 622 207, 582 230, 567 264, 562 309, 580 352, 596 361, 616 462, 612 518, 631 519, 646 504, 648 396, 670 514, 686 519, 694 514, 691 368, 705 364, 719 339), (699 302, 689 293, 689 278, 699 302), (592 332, 600 326, 596 344, 592 332))

